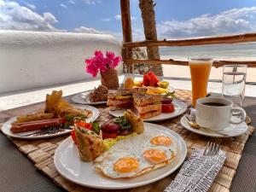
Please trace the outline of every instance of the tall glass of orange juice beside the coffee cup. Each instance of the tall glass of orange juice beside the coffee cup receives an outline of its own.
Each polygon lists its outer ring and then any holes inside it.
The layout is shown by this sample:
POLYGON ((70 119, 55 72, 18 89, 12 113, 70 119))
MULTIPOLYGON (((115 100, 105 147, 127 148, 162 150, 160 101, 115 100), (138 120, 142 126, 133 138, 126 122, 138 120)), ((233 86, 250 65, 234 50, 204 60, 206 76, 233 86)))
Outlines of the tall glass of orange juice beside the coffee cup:
POLYGON ((192 82, 192 105, 201 97, 207 96, 207 84, 212 68, 210 58, 189 58, 189 68, 192 82))

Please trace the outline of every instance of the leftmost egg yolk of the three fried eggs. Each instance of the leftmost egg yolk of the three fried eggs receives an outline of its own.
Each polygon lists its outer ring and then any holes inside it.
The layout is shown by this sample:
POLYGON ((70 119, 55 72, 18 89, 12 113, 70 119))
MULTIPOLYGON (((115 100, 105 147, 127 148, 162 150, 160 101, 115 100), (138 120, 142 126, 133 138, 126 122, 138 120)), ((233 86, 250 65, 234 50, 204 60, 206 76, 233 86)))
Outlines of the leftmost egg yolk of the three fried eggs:
POLYGON ((115 162, 113 170, 115 172, 134 172, 137 170, 139 162, 134 157, 124 157, 115 162))

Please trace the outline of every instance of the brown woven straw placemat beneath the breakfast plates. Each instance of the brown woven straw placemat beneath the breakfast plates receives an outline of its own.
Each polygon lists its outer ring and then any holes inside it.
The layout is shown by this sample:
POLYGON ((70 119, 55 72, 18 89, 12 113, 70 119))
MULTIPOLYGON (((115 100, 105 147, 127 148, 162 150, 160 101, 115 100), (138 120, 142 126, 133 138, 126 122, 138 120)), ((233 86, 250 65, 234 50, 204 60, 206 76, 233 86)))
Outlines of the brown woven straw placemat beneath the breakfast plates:
MULTIPOLYGON (((190 103, 191 92, 189 90, 176 90, 176 96, 178 99, 183 102, 190 103)), ((100 106, 98 108, 101 112, 101 115, 97 121, 104 122, 108 119, 111 119, 112 116, 108 113, 106 106, 100 106)), ((180 118, 165 120, 157 122, 159 125, 164 125, 170 128, 172 131, 176 131, 183 139, 185 140, 188 147, 187 157, 191 154, 194 148, 204 148, 208 141, 219 143, 221 148, 226 152, 227 159, 224 162, 224 167, 218 174, 218 177, 215 179, 212 184, 212 188, 209 191, 214 192, 228 192, 230 191, 230 186, 232 183, 233 177, 235 177, 236 169, 241 159, 242 151, 247 143, 247 139, 252 135, 254 128, 251 125, 248 125, 248 131, 240 137, 230 137, 230 138, 211 138, 197 135, 190 131, 183 129, 183 126, 180 124, 180 118)), ((80 191, 90 191, 90 192, 99 192, 107 191, 102 189, 89 189, 82 187, 78 184, 71 183, 67 179, 61 177, 61 175, 56 171, 55 165, 53 162, 53 157, 55 154, 55 149, 61 144, 61 142, 66 139, 67 136, 55 137, 50 139, 41 139, 41 140, 20 140, 12 139, 13 143, 19 148, 19 150, 26 154, 29 159, 34 162, 34 165, 38 170, 42 171, 48 177, 51 177, 55 183, 60 185, 62 188, 67 189, 71 192, 80 192, 80 191)), ((135 189, 127 189, 125 191, 131 192, 160 192, 166 189, 166 186, 171 183, 172 179, 176 176, 177 172, 172 173, 170 176, 161 179, 158 182, 145 185, 143 187, 135 189)), ((122 190, 115 190, 122 191, 122 190)))

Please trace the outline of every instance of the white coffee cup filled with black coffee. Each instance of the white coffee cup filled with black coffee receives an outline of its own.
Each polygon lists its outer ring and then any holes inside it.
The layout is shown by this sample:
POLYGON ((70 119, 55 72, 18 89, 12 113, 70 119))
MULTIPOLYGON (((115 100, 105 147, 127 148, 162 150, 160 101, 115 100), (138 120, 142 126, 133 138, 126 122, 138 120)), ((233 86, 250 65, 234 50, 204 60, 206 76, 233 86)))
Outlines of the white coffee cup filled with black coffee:
POLYGON ((198 125, 215 131, 224 130, 230 124, 240 124, 246 119, 246 112, 242 108, 232 108, 232 105, 230 100, 222 97, 200 98, 196 100, 195 121, 198 125), (218 106, 214 103, 218 103, 218 106), (240 119, 233 118, 234 112, 239 112, 240 119))

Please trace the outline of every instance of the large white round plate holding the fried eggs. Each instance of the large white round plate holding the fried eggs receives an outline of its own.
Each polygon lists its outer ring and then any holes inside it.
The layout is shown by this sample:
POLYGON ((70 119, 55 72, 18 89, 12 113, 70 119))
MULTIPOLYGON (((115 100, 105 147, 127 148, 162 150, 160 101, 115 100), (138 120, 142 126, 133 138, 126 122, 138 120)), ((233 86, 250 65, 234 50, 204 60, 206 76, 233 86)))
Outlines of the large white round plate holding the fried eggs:
POLYGON ((144 126, 144 131, 163 132, 177 142, 179 153, 168 166, 133 178, 112 179, 103 177, 102 174, 95 171, 92 162, 83 162, 79 159, 78 147, 73 143, 71 137, 68 137, 55 150, 55 167, 61 176, 67 178, 67 180, 96 189, 128 189, 158 181, 175 172, 182 165, 187 154, 186 143, 176 132, 164 126, 149 123, 144 123, 144 126))

